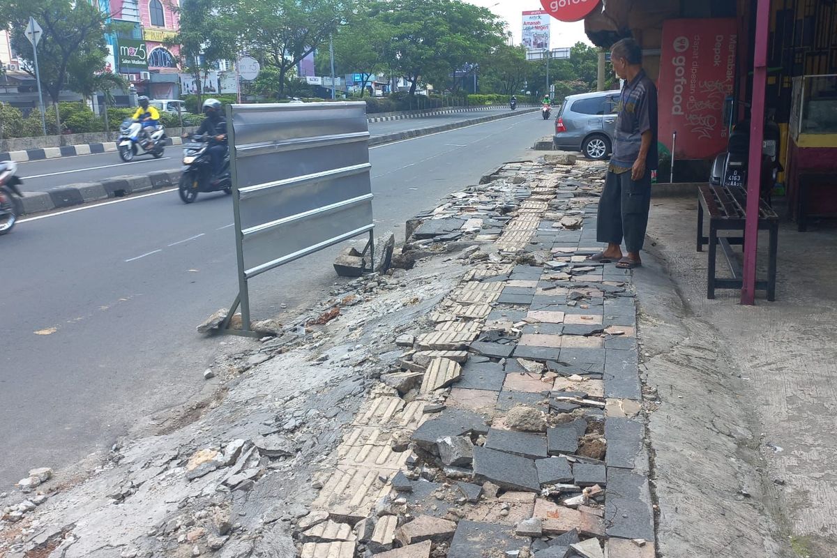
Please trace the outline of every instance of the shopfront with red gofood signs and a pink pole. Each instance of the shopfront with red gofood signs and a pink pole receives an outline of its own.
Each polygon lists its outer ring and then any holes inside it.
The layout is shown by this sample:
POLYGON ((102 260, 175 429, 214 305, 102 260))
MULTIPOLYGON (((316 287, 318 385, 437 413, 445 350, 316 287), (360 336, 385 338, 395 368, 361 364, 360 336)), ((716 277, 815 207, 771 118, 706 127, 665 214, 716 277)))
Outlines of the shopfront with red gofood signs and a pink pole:
POLYGON ((837 4, 608 0, 587 15, 585 28, 605 49, 624 37, 642 45, 660 91, 663 152, 708 168, 732 126, 744 122, 750 176, 742 302, 752 304, 766 121, 778 124, 779 180, 791 216, 837 212, 837 4))

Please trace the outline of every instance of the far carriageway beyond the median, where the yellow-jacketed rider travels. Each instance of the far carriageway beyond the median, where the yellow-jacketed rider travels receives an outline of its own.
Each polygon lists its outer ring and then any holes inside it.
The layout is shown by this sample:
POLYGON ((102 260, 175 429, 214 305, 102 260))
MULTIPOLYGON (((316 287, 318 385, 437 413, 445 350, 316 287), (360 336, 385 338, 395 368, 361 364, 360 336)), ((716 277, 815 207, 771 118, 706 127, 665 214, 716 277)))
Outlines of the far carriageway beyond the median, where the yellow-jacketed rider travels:
MULTIPOLYGON (((372 136, 383 136, 398 131, 415 130, 430 126, 445 125, 462 120, 508 112, 506 108, 479 112, 460 112, 449 115, 434 115, 427 118, 408 118, 388 122, 373 122, 369 125, 372 136)), ((143 174, 150 171, 171 171, 181 167, 182 147, 172 146, 160 159, 151 156, 137 157, 129 163, 122 162, 116 152, 97 155, 61 157, 44 161, 18 163, 18 172, 23 178, 22 190, 44 192, 50 188, 64 187, 80 182, 97 182, 105 178, 126 174, 143 174)))

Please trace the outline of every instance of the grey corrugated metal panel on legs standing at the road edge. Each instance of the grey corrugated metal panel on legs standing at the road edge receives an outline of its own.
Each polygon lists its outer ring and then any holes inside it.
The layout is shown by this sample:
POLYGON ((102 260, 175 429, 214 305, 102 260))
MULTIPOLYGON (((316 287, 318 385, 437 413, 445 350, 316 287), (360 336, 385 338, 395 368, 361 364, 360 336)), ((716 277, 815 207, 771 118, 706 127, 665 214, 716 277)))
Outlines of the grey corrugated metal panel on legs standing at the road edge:
POLYGON ((228 105, 227 123, 239 296, 222 330, 249 335, 249 279, 362 234, 372 249, 369 130, 358 102, 228 105))

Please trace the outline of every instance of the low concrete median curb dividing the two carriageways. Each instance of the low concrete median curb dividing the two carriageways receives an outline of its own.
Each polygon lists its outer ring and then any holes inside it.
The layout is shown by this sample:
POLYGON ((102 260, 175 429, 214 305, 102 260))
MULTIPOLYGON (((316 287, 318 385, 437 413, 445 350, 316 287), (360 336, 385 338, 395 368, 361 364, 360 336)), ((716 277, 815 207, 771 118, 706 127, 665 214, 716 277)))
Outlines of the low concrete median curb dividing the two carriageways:
MULTIPOLYGON (((517 112, 507 112, 501 115, 481 116, 480 118, 461 120, 444 125, 429 126, 372 136, 369 146, 383 146, 395 141, 403 141, 421 136, 429 136, 444 131, 465 128, 470 125, 485 124, 493 120, 501 120, 516 115, 534 112, 536 109, 521 109, 517 112)), ((179 139, 179 138, 177 138, 179 139)), ((80 182, 65 187, 52 188, 46 192, 23 192, 21 203, 23 215, 49 212, 83 205, 85 203, 101 202, 116 197, 128 197, 135 194, 166 190, 177 187, 180 170, 151 171, 141 175, 125 175, 111 177, 100 182, 80 182)))

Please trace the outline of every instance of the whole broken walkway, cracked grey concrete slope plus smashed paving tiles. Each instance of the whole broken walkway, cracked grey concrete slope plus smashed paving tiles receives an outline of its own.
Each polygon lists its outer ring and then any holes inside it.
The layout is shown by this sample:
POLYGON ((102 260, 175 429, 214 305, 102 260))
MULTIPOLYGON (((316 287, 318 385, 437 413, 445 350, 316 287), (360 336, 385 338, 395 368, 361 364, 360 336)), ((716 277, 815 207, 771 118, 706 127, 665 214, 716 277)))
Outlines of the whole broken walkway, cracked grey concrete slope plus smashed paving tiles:
POLYGON ((65 494, 33 470, 0 554, 652 558, 630 276, 586 261, 603 170, 510 163, 408 222, 204 372, 199 420, 65 494))

